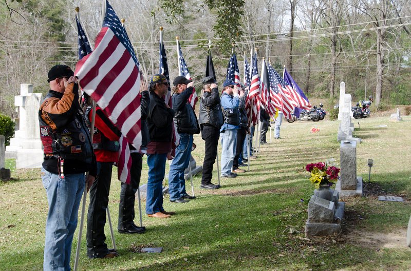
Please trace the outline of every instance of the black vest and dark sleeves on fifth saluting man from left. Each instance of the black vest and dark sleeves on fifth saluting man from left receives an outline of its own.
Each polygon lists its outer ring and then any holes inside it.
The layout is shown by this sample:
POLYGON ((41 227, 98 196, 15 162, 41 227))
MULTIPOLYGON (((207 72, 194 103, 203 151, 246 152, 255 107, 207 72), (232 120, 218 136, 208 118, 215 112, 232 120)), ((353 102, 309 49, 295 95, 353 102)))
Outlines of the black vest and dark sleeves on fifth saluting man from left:
POLYGON ((177 132, 179 134, 199 134, 200 127, 198 126, 197 116, 194 113, 188 99, 193 93, 193 88, 187 88, 181 93, 173 94, 173 110, 176 112, 174 115, 174 123, 177 126, 177 132))

